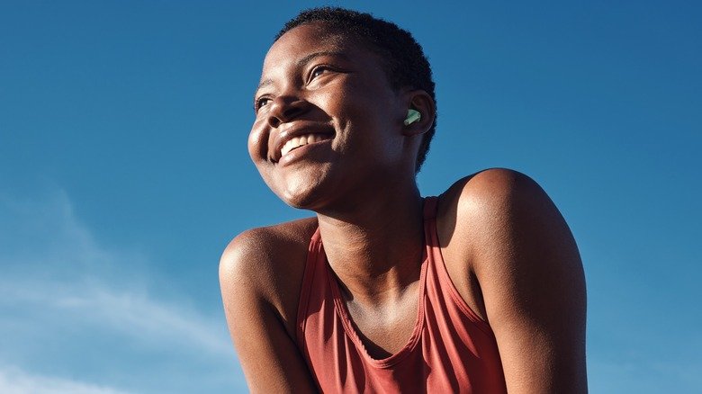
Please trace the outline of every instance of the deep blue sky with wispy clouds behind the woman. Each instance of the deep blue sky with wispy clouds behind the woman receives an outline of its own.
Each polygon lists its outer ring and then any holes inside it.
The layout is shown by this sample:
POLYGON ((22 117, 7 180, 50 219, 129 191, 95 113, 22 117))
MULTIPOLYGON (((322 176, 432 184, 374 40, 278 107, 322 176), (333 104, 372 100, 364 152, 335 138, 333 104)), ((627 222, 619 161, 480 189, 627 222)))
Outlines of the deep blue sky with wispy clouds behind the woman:
MULTIPOLYGON (((531 175, 581 248, 591 391, 702 390, 702 7, 376 3, 338 4, 434 67, 422 193, 531 175)), ((246 390, 217 264, 309 215, 246 139, 272 37, 318 4, 0 4, 0 392, 246 390)))

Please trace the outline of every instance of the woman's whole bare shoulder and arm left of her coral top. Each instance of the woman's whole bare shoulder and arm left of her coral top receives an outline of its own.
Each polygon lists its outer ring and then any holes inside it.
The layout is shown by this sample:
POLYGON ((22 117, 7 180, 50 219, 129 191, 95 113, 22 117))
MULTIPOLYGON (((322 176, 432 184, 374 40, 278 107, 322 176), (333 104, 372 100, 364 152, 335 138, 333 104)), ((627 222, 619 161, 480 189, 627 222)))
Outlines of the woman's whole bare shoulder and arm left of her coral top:
POLYGON ((307 246, 317 219, 247 230, 220 261, 229 333, 251 392, 312 392, 295 345, 297 304, 307 246))

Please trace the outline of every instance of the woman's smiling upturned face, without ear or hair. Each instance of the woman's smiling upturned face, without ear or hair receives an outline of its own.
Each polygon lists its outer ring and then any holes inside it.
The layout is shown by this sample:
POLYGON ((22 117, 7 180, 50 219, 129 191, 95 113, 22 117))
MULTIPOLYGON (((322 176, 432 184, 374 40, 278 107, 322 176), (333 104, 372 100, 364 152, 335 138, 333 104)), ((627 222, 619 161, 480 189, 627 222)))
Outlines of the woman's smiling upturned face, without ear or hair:
POLYGON ((381 59, 319 24, 286 32, 268 51, 248 152, 283 201, 322 210, 387 187, 410 169, 408 103, 381 59), (408 165, 409 164, 409 165, 408 165))

